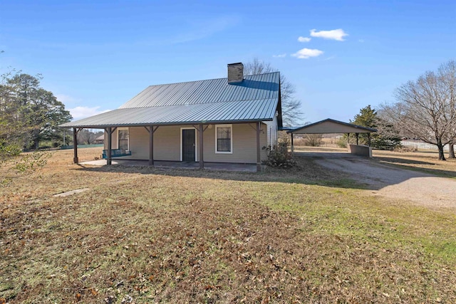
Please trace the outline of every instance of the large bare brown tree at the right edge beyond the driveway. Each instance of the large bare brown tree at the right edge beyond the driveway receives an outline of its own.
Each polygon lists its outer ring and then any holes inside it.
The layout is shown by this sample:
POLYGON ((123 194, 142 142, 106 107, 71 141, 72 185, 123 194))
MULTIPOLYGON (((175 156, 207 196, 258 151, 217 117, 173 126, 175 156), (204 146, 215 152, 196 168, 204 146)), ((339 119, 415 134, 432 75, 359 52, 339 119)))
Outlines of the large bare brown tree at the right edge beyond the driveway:
POLYGON ((383 105, 383 115, 404 134, 436 145, 439 159, 443 147, 456 137, 455 61, 440 66, 437 73, 426 72, 395 91, 398 100, 383 105))

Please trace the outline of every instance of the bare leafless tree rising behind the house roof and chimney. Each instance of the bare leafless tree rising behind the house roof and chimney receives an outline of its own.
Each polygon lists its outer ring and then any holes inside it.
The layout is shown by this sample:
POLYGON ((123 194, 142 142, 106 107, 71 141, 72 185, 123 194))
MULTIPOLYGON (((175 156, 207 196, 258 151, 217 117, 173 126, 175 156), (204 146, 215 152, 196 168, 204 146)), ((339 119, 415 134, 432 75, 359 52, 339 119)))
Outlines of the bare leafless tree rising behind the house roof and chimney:
MULTIPOLYGON (((255 75, 263 73, 276 72, 277 70, 270 63, 260 61, 254 58, 251 62, 244 65, 244 73, 246 75, 255 75)), ((283 74, 280 74, 280 91, 282 105, 282 121, 284 125, 297 125, 302 119, 304 113, 301 112, 301 100, 295 97, 296 90, 289 80, 283 74)))

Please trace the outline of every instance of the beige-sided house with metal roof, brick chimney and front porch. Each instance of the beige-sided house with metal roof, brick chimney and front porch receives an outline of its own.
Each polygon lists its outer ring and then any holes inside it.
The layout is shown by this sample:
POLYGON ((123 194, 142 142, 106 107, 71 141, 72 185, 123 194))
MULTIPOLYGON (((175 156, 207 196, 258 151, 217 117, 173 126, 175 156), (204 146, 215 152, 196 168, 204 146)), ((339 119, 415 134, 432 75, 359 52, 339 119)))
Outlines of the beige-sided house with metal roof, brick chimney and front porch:
MULTIPOLYGON (((253 163, 261 169, 265 147, 282 127, 279 72, 244 75, 242 63, 228 77, 150 85, 117 110, 68 122, 105 130, 107 164, 123 159, 253 163), (119 154, 116 151, 115 156, 119 154)), ((78 162, 75 147, 74 162, 78 162)))

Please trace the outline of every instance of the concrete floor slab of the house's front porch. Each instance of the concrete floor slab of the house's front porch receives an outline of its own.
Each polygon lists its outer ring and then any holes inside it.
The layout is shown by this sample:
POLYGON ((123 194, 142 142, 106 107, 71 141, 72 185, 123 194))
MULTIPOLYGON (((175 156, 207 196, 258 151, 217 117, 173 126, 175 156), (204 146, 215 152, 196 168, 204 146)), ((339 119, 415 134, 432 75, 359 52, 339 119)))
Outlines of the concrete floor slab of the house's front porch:
MULTIPOLYGON (((89 162, 80 162, 80 164, 90 164, 92 166, 106 166, 106 159, 92 160, 89 162)), ((147 167, 148 160, 135 159, 113 159, 112 165, 120 164, 122 166, 147 167)), ((168 162, 155 160, 154 167, 158 168, 177 168, 177 169, 199 169, 199 162, 168 162)), ((204 162, 204 169, 214 171, 238 171, 238 172, 257 172, 257 164, 230 164, 227 162, 204 162)))

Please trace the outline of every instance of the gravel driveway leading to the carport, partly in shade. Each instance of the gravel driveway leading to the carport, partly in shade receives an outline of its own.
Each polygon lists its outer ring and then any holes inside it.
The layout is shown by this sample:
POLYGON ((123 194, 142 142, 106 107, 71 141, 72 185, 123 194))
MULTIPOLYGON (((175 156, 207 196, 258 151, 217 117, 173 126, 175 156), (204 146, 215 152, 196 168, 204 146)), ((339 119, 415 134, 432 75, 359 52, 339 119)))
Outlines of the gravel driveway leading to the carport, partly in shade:
POLYGON ((306 157, 314 157, 322 167, 343 172, 366 184, 374 195, 406 199, 425 206, 456 208, 455 179, 400 169, 345 153, 311 154, 306 153, 306 157))

